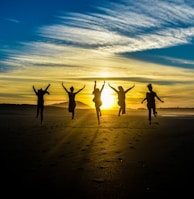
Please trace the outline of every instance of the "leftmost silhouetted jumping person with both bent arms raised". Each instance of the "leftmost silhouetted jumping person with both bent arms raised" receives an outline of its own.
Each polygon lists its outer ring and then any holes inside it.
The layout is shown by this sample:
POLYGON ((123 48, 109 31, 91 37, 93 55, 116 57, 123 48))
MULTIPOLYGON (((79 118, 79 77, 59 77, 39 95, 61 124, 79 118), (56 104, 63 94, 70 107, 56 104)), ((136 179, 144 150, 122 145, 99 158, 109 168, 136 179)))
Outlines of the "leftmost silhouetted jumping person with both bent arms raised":
POLYGON ((35 87, 33 86, 33 90, 35 92, 35 94, 37 95, 37 114, 36 117, 38 118, 39 116, 39 112, 40 112, 40 121, 41 124, 43 122, 43 110, 44 110, 44 95, 45 94, 49 94, 49 92, 47 91, 47 89, 49 88, 50 84, 48 84, 48 86, 46 87, 46 89, 42 90, 42 88, 38 89, 38 91, 36 91, 35 87))

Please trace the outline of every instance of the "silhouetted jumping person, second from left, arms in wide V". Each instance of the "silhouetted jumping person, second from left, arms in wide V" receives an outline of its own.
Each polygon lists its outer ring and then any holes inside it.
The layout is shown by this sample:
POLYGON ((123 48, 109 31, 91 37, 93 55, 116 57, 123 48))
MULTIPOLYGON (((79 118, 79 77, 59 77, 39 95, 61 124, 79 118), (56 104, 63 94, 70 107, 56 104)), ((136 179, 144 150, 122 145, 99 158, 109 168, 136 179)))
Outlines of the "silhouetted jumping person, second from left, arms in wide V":
POLYGON ((75 116, 75 107, 76 107, 76 101, 75 101, 75 96, 77 93, 79 93, 80 91, 82 91, 85 88, 85 85, 83 88, 79 89, 77 92, 73 92, 74 91, 74 87, 71 86, 70 87, 70 91, 68 91, 66 89, 66 87, 63 85, 62 82, 62 86, 65 89, 65 91, 67 92, 68 96, 69 96, 69 104, 68 104, 68 110, 70 113, 72 113, 72 120, 74 119, 75 116))

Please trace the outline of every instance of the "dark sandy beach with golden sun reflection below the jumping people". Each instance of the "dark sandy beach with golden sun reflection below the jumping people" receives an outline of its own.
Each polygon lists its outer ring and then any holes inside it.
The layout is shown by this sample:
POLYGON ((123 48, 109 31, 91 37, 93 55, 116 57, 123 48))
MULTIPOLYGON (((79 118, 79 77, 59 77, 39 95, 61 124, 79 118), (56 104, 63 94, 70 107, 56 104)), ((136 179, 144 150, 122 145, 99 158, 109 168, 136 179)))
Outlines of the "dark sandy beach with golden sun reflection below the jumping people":
POLYGON ((189 198, 193 196, 194 112, 103 111, 0 106, 4 198, 189 198), (12 197, 13 198, 13 197, 12 197))

